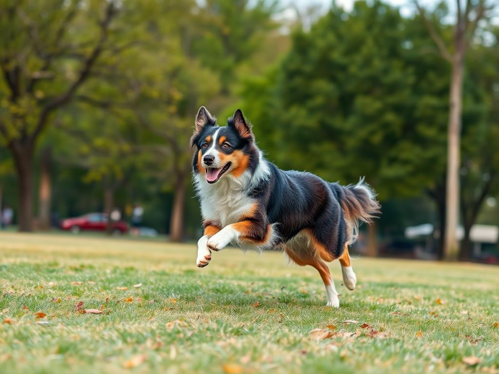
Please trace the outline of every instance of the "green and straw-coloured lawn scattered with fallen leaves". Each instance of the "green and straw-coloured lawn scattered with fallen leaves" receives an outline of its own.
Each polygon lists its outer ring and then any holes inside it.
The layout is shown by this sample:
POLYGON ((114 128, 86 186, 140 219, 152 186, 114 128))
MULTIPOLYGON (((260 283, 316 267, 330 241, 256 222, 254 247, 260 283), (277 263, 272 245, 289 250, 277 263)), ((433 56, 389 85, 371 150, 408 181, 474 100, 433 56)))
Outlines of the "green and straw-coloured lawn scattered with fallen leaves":
POLYGON ((1 233, 0 371, 499 372, 499 267, 360 258, 351 292, 335 262, 336 310, 279 253, 195 261, 192 244, 1 233))

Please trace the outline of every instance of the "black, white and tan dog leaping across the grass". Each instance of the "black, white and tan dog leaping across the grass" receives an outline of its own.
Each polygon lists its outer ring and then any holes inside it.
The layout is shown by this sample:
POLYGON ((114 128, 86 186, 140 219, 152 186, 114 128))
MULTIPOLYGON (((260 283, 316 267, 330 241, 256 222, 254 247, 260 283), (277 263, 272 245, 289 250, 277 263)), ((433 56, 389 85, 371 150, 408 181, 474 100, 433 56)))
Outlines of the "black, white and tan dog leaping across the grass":
POLYGON ((326 262, 338 259, 344 285, 355 288, 348 246, 357 239, 359 221, 369 223, 380 212, 374 191, 363 179, 340 186, 278 169, 263 157, 239 109, 220 127, 201 107, 191 146, 196 147, 193 179, 204 228, 197 265, 207 266, 212 251, 230 243, 243 249, 279 248, 296 264, 318 270, 327 306, 338 308, 326 262))

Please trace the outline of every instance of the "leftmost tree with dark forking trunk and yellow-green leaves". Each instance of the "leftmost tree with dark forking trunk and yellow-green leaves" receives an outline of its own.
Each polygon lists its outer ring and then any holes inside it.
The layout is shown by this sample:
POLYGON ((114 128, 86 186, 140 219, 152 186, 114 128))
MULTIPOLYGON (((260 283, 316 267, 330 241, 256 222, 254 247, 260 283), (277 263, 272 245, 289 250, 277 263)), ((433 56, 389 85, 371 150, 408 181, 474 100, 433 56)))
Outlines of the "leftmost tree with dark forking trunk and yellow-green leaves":
POLYGON ((114 0, 0 3, 0 134, 14 160, 21 231, 32 229, 37 141, 90 78, 116 13, 114 0))

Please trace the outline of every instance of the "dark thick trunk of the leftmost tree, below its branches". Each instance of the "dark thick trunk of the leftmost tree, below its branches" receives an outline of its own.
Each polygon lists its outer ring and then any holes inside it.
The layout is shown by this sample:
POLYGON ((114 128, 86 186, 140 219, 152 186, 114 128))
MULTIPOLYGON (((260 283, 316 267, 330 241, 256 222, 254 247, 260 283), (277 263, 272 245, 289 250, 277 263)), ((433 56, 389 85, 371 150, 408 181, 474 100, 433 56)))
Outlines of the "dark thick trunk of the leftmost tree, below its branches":
POLYGON ((14 142, 10 144, 17 175, 18 230, 33 230, 33 145, 14 142))

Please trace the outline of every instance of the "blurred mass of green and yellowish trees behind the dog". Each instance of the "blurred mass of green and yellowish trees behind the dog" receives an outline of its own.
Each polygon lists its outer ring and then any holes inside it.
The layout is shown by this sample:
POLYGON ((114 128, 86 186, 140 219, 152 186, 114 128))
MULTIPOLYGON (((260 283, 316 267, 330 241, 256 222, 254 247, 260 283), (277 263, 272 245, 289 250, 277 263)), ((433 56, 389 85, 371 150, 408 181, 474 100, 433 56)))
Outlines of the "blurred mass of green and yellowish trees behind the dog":
POLYGON ((480 16, 466 30, 459 116, 469 259, 471 227, 499 224, 499 32, 481 4, 453 18, 445 1, 321 13, 265 0, 1 0, 0 202, 23 231, 89 211, 129 218, 139 203, 144 225, 194 238, 194 115, 205 105, 223 124, 241 107, 279 167, 365 176, 379 192, 366 253, 432 223, 442 258, 453 70, 442 48, 455 52, 454 20, 480 16))

